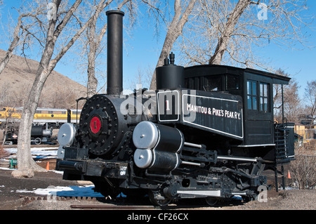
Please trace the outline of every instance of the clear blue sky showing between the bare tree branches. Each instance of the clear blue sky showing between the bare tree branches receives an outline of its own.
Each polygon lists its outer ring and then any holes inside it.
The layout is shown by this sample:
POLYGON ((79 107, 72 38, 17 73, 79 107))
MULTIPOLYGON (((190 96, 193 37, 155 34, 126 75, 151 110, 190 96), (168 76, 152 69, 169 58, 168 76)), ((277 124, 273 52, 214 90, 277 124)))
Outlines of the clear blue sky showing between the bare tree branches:
MULTIPOLYGON (((12 13, 13 18, 16 13, 11 9, 12 6, 19 6, 20 1, 4 1, 4 6, 1 6, 1 22, 6 23, 8 12, 12 13)), ((310 14, 316 15, 316 1, 308 1, 310 6, 310 14)), ((315 22, 314 22, 315 24, 315 22)), ((316 27, 316 26, 315 26, 316 27)), ((2 29, 2 28, 1 28, 2 29)), ((269 44, 261 49, 260 54, 271 62, 271 67, 282 68, 288 74, 298 81, 300 88, 300 96, 303 98, 303 91, 307 81, 316 79, 316 29, 305 30, 310 37, 308 41, 312 48, 307 48, 298 45, 298 50, 284 50, 269 44)), ((131 88, 130 82, 136 79, 138 70, 145 70, 147 67, 152 67, 157 64, 159 53, 164 41, 165 31, 162 28, 159 32, 159 37, 154 36, 154 27, 148 25, 148 20, 142 25, 138 25, 133 29, 132 37, 124 35, 124 88, 131 88)), ((0 48, 8 49, 8 40, 6 35, 1 30, 0 48)), ((106 55, 106 52, 104 53, 106 55)), ((74 81, 82 81, 82 75, 78 73, 76 61, 71 61, 71 53, 67 53, 66 57, 55 67, 57 72, 64 74, 74 81)), ((39 60, 37 58, 32 58, 39 60)), ((105 59, 106 60, 106 59, 105 59)), ((98 67, 100 70, 106 70, 106 66, 98 67)))

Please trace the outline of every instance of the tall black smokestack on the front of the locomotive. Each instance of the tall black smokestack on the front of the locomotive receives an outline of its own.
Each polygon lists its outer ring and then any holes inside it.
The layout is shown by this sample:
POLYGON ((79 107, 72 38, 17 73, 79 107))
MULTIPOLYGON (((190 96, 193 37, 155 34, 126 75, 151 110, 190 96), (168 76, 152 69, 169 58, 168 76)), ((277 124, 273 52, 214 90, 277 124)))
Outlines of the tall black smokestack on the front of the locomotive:
POLYGON ((123 91, 123 16, 118 10, 107 11, 107 94, 123 91))

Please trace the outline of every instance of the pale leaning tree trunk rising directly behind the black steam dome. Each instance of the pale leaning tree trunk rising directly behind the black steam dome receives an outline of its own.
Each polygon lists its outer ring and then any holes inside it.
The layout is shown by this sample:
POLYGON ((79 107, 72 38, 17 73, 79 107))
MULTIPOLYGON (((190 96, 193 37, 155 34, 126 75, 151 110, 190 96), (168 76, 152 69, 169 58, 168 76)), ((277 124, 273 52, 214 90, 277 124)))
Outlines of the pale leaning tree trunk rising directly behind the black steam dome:
MULTIPOLYGON (((164 64, 164 58, 166 58, 176 39, 182 34, 183 27, 188 20, 188 17, 195 6, 197 0, 190 0, 187 3, 186 8, 183 11, 183 7, 185 4, 180 0, 174 1, 174 15, 171 21, 171 24, 168 26, 168 31, 166 33, 166 37, 164 39, 164 45, 162 46, 162 51, 159 55, 159 59, 156 67, 162 66, 164 64)), ((156 72, 154 72, 152 76, 152 82, 150 84, 150 89, 156 89, 156 72)))

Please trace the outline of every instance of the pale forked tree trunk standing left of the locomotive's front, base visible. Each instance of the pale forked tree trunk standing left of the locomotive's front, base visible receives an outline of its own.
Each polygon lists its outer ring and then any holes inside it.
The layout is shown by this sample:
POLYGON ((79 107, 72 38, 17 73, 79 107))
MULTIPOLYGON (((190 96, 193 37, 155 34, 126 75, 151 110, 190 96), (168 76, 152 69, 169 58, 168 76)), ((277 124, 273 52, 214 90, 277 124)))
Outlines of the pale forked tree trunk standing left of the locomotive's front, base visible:
POLYGON ((62 46, 59 52, 56 54, 55 58, 53 58, 53 52, 55 49, 56 41, 58 37, 62 33, 62 30, 66 27, 67 23, 72 18, 74 11, 77 10, 79 4, 81 4, 81 0, 74 1, 74 4, 65 12, 65 16, 62 20, 57 23, 57 13, 58 8, 60 6, 61 0, 53 1, 53 13, 52 16, 49 17, 48 31, 46 34, 46 44, 44 51, 41 56, 41 61, 39 63, 39 67, 37 69, 36 78, 34 80, 33 86, 29 91, 28 98, 24 104, 22 118, 19 126, 19 140, 18 140, 18 170, 13 171, 13 176, 33 176, 34 171, 45 171, 41 169, 41 167, 35 164, 32 159, 32 154, 29 145, 29 138, 31 133, 31 126, 33 121, 34 112, 39 103, 39 96, 41 95, 41 90, 43 89, 44 83, 55 68, 55 65, 62 58, 63 55, 69 50, 69 48, 74 44, 74 42, 79 38, 82 32, 86 29, 88 24, 91 22, 93 16, 95 14, 99 14, 105 8, 105 0, 100 1, 98 6, 96 7, 95 13, 93 13, 92 17, 74 34, 73 37, 62 46))

